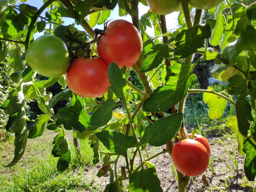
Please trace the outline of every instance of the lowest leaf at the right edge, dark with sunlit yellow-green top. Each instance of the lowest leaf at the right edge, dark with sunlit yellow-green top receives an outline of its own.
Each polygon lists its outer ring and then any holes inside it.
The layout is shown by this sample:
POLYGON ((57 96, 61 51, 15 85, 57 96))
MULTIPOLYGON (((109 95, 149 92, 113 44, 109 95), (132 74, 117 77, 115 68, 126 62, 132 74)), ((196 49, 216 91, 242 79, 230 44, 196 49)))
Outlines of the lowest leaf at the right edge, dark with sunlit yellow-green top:
POLYGON ((244 141, 244 174, 249 181, 254 181, 256 175, 256 143, 252 138, 247 138, 244 141))

